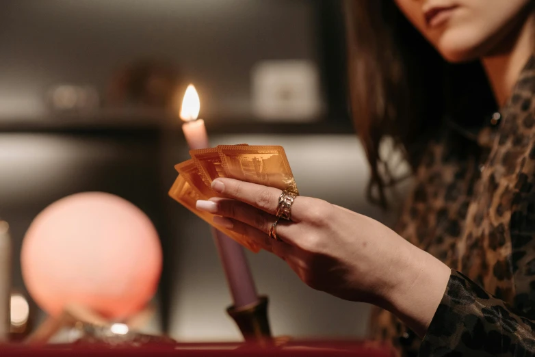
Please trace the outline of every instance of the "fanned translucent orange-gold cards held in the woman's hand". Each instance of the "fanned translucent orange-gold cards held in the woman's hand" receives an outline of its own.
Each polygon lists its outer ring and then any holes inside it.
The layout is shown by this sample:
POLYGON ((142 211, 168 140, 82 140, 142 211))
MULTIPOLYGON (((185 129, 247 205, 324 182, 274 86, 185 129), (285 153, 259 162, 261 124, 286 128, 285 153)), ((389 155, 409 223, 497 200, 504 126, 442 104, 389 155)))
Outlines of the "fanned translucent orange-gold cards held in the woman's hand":
POLYGON ((213 214, 198 211, 196 201, 220 196, 211 189, 212 181, 218 177, 276 187, 298 195, 284 149, 281 146, 220 145, 216 148, 191 150, 190 155, 192 159, 174 166, 179 176, 174 181, 169 196, 242 246, 258 252, 258 243, 214 224, 213 214))

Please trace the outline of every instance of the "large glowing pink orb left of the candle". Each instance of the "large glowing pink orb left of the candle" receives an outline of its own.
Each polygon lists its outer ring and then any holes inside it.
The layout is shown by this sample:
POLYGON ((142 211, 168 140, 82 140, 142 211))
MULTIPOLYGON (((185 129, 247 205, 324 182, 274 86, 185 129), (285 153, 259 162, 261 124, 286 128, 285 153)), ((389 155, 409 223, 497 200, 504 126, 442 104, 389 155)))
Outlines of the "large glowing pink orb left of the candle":
POLYGON ((155 294, 161 246, 151 220, 131 202, 85 192, 37 215, 23 241, 21 265, 31 297, 50 315, 77 304, 119 319, 155 294))

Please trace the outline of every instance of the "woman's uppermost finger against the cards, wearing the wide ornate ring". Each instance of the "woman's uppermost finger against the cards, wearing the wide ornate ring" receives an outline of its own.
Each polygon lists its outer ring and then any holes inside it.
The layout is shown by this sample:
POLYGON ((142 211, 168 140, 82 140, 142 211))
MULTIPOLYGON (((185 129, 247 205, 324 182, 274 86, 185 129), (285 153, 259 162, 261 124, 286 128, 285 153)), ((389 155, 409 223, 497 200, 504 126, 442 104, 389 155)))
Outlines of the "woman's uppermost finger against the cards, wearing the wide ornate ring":
MULTIPOLYGON (((275 215, 278 198, 282 191, 273 187, 257 185, 256 183, 248 183, 244 181, 235 180, 233 178, 216 178, 212 182, 212 189, 228 198, 234 198, 256 207, 261 211, 275 215)), ((302 213, 306 213, 303 199, 297 197, 291 207, 291 220, 299 222, 302 213)))

